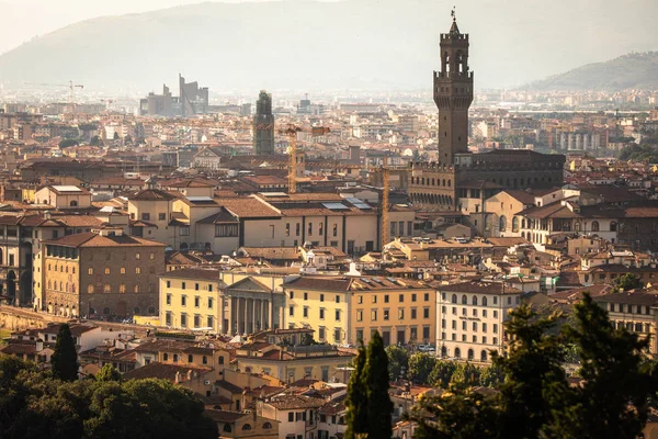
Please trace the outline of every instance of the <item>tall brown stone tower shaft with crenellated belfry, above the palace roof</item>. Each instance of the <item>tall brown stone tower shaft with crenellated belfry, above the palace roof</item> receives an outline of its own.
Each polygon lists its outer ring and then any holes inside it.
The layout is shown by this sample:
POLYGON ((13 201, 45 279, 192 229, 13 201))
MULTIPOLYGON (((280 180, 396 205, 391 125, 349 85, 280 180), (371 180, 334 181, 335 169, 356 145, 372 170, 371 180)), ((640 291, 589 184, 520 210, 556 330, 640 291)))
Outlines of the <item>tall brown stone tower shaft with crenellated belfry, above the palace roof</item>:
POLYGON ((455 11, 450 33, 441 34, 441 71, 434 71, 439 109, 439 162, 453 165, 455 154, 468 153, 468 108, 473 71, 468 71, 468 34, 457 27, 455 11))

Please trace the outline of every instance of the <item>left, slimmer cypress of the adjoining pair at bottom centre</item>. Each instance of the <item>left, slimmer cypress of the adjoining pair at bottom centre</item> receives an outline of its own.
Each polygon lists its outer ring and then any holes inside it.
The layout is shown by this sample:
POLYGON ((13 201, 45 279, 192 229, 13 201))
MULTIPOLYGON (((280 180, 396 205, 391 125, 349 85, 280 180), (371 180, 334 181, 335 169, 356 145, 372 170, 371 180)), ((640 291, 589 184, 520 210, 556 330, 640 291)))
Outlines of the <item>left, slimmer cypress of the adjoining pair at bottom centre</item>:
POLYGON ((345 439, 355 439, 358 435, 367 431, 367 390, 363 379, 365 362, 365 347, 361 342, 359 353, 354 359, 354 371, 348 385, 345 439))

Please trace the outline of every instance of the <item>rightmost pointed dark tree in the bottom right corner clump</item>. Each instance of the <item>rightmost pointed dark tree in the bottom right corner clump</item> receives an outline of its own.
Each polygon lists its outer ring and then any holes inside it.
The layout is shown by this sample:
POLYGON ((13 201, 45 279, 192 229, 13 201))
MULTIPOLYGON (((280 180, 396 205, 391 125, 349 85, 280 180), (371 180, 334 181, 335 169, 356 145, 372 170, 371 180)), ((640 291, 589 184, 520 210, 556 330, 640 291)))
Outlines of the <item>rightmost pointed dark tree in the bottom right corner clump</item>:
POLYGON ((583 382, 557 430, 574 438, 636 438, 658 391, 656 370, 644 361, 650 341, 614 329, 589 294, 575 308, 578 325, 566 331, 578 348, 583 382))

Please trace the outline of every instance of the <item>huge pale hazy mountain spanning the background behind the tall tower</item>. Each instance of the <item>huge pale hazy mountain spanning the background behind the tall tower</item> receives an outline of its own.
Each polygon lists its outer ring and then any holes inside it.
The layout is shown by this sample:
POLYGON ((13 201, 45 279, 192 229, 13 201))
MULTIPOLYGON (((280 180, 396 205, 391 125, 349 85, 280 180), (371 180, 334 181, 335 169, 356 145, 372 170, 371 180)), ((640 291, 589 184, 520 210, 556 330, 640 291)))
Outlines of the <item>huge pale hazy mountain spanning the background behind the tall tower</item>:
MULTIPOLYGON (((647 13, 655 1, 633 0, 633 8, 619 0, 598 0, 595 8, 586 0, 465 2, 457 22, 470 34, 476 87, 518 86, 583 61, 656 48, 658 26, 647 13)), ((261 88, 431 90, 453 3, 206 2, 101 16, 1 55, 0 82, 72 79, 86 92, 160 91, 167 82, 178 93, 181 72, 211 92, 248 89, 254 95, 261 88)))

